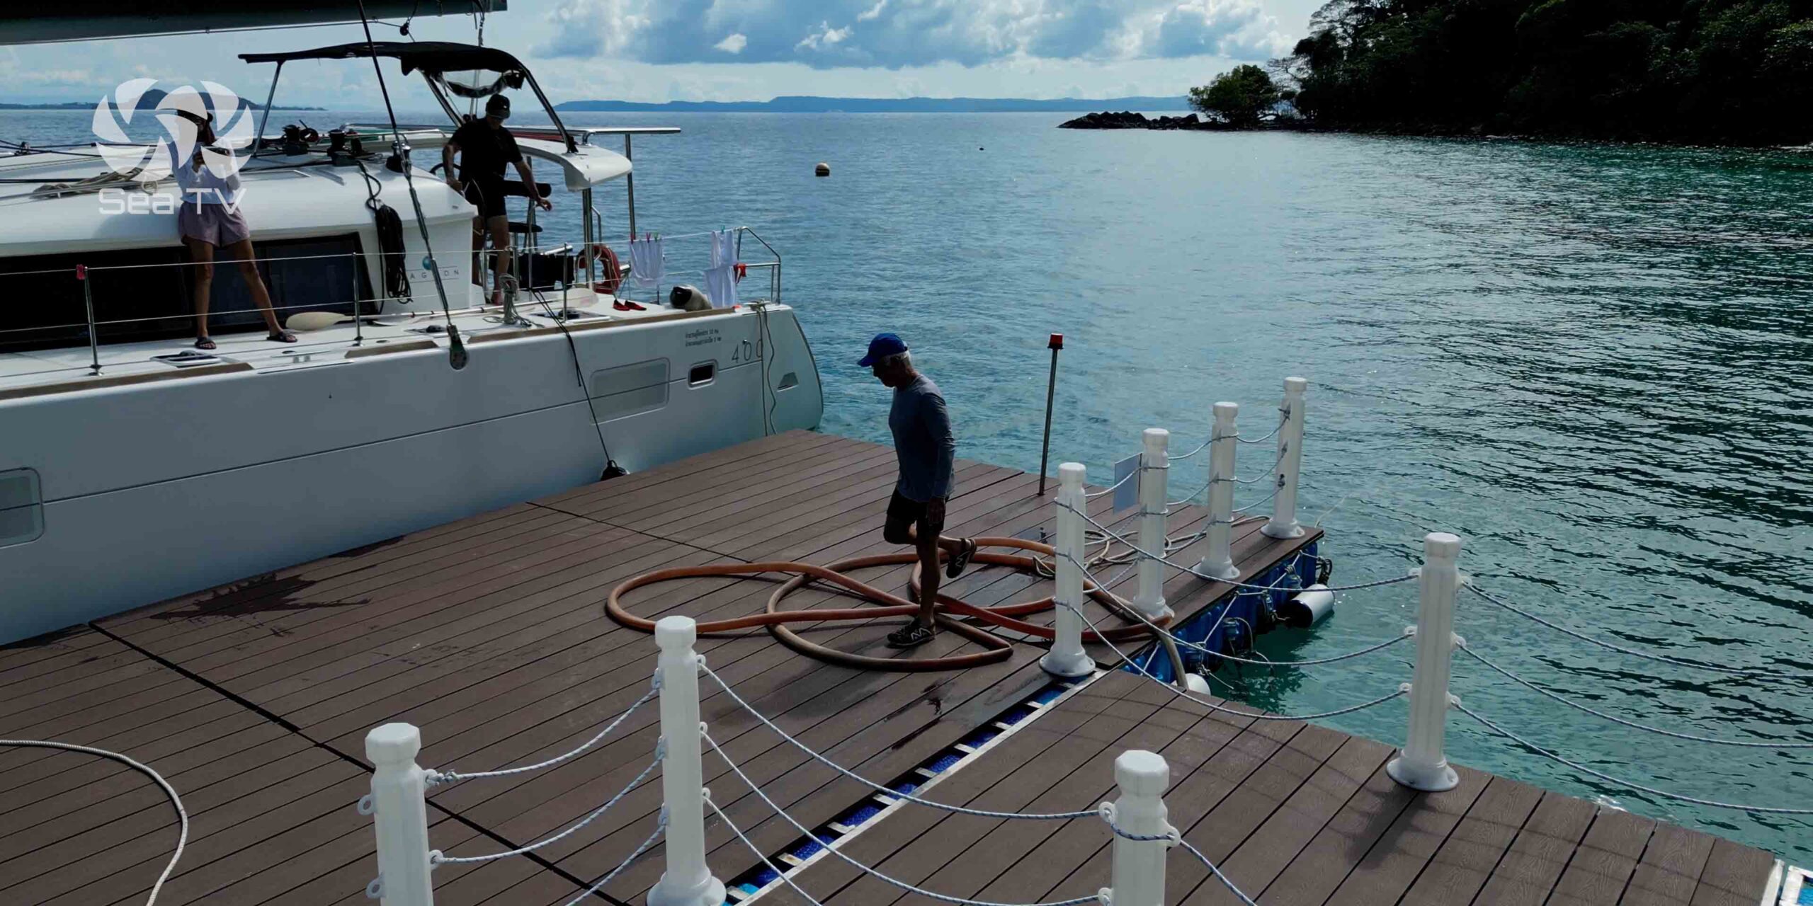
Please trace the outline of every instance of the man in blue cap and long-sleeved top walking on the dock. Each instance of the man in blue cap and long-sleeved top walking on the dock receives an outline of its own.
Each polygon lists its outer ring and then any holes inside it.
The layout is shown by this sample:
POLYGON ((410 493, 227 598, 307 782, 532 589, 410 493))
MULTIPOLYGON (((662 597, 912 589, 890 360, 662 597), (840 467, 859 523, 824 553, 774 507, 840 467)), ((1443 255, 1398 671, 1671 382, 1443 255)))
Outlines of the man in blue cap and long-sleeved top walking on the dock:
POLYGON ((945 531, 945 500, 952 491, 957 439, 950 433, 945 395, 932 379, 914 370, 912 353, 897 335, 876 333, 876 339, 868 341, 868 355, 856 364, 872 368, 883 386, 894 388, 888 431, 894 433, 899 478, 894 482, 888 522, 881 536, 888 544, 912 544, 919 549, 919 614, 905 627, 888 632, 888 647, 910 649, 932 641, 939 547, 950 554, 945 565, 945 574, 950 578, 963 574, 963 567, 975 556, 974 540, 939 535, 945 531))

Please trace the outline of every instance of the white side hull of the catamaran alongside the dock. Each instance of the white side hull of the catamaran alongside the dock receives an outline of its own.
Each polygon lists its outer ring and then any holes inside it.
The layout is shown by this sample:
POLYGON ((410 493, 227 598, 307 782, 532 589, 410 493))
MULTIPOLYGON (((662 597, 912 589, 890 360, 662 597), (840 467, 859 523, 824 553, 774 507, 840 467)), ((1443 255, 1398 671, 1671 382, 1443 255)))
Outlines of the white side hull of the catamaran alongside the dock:
POLYGON ((442 339, 0 399, 0 475, 33 469, 42 507, 36 538, 0 547, 0 641, 593 482, 606 448, 638 471, 823 411, 785 306, 571 341, 480 335, 459 371, 442 339))

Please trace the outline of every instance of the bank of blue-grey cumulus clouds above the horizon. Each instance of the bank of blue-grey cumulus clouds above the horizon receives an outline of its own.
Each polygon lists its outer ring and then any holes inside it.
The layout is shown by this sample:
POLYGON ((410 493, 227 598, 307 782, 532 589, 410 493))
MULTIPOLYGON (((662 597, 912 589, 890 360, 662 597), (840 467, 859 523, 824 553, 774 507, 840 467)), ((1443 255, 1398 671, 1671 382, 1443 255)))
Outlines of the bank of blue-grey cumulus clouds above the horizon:
POLYGON ((560 0, 540 56, 647 63, 965 67, 1004 60, 1264 60, 1289 49, 1258 0, 560 0), (725 34, 729 34, 725 38, 725 34))

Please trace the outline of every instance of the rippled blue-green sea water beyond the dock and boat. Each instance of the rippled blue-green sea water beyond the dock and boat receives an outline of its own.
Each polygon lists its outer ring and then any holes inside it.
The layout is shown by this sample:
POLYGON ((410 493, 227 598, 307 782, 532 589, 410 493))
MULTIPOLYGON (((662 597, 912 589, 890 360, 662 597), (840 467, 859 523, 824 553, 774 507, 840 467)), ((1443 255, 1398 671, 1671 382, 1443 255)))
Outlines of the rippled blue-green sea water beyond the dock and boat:
MULTIPOLYGON (((819 357, 827 431, 887 439, 887 393, 850 364, 877 330, 906 337, 945 388, 963 457, 1026 469, 1039 464, 1046 335, 1064 333, 1052 458, 1097 478, 1148 426, 1193 448, 1220 399, 1242 404, 1246 431, 1265 433, 1282 379, 1304 375, 1300 515, 1329 531, 1336 583, 1403 574, 1423 533, 1454 531, 1479 585, 1561 625, 1813 672, 1813 152, 1071 132, 1052 129, 1059 120, 573 123, 685 129, 636 143, 638 226, 752 225, 781 250, 785 299, 819 357), (834 176, 812 178, 816 161, 834 176)), ((9 140, 85 129, 87 114, 0 114, 9 140)), ((557 203, 555 223, 577 236, 575 205, 557 203)), ((620 237, 620 187, 598 205, 620 237)), ((1242 475, 1269 464, 1267 448, 1242 448, 1242 475)), ((1175 469, 1173 487, 1197 487, 1202 466, 1175 469)), ((1414 609, 1414 585, 1349 593, 1329 623, 1275 632, 1260 651, 1352 651, 1398 634, 1414 609)), ((1615 656, 1474 596, 1458 632, 1635 721, 1813 741, 1809 681, 1615 656)), ((1409 656, 1400 645, 1224 678, 1251 701, 1314 712, 1391 692, 1409 656)), ((1813 750, 1664 739, 1570 712, 1467 658, 1454 672, 1467 707, 1597 770, 1813 808, 1813 750)), ((1329 723, 1396 741, 1403 719, 1391 703, 1329 723)), ((1592 781, 1458 712, 1449 752, 1813 859, 1808 819, 1592 781)))

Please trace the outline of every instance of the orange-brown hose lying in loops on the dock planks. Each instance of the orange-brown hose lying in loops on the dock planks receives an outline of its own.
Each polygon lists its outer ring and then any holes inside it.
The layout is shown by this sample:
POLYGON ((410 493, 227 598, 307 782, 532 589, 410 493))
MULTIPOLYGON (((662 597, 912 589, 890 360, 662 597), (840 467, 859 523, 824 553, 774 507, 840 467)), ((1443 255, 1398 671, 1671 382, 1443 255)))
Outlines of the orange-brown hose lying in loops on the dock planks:
MULTIPOLYGON (((1046 554, 1046 556, 1057 554, 1057 551, 1052 545, 1028 542, 1024 538, 977 536, 972 540, 977 544, 977 547, 1015 547, 1021 551, 1032 551, 1033 554, 1046 554)), ((943 558, 943 551, 939 553, 939 556, 943 558)), ((1013 567, 1021 573, 1035 573, 1037 569, 1037 560, 1033 556, 1023 556, 1023 554, 997 554, 997 553, 977 551, 972 562, 1013 567)), ((754 576, 761 573, 785 573, 790 574, 792 578, 789 578, 778 589, 774 589, 774 594, 769 594, 769 602, 763 607, 763 612, 736 616, 729 620, 707 620, 698 623, 698 632, 700 634, 736 632, 743 629, 763 627, 769 631, 769 634, 772 634, 776 640, 780 640, 781 645, 787 645, 789 649, 794 649, 801 654, 818 658, 827 663, 836 663, 841 667, 854 667, 863 670, 961 670, 968 667, 981 667, 984 663, 1004 661, 1013 654, 1012 641, 999 638, 994 632, 988 632, 968 622, 954 620, 952 614, 970 620, 981 620, 1035 638, 1050 640, 1053 636, 1052 627, 1019 620, 1021 616, 1050 611, 1053 607, 1052 596, 1019 603, 1003 603, 995 607, 977 607, 974 603, 966 603, 963 600, 939 594, 936 598, 932 620, 939 627, 950 629, 952 632, 963 636, 965 640, 983 647, 983 651, 977 652, 946 654, 941 658, 872 658, 867 654, 850 654, 845 651, 830 649, 827 645, 807 641, 798 632, 789 629, 790 623, 839 623, 848 620, 874 620, 877 616, 917 614, 919 612, 917 603, 843 574, 843 571, 847 569, 867 569, 879 565, 906 565, 906 564, 914 565, 912 580, 908 582, 908 585, 914 596, 917 596, 919 554, 899 553, 899 554, 852 556, 847 560, 838 560, 829 565, 803 564, 798 560, 767 560, 761 564, 716 564, 716 565, 658 569, 654 573, 644 573, 640 576, 633 576, 627 582, 620 583, 618 587, 611 589, 611 598, 606 602, 606 611, 611 614, 613 620, 629 629, 653 632, 654 622, 629 612, 629 609, 624 607, 622 600, 624 594, 640 589, 644 585, 656 585, 662 582, 674 582, 682 578, 754 576), (841 609, 809 609, 809 611, 780 609, 781 598, 792 594, 794 591, 798 591, 800 587, 803 587, 812 580, 829 582, 832 585, 843 587, 850 593, 856 593, 858 596, 879 602, 881 607, 841 607, 841 609)), ((1108 607, 1110 612, 1120 616, 1122 620, 1135 622, 1133 618, 1129 618, 1129 614, 1126 614, 1124 605, 1111 593, 1095 587, 1095 583, 1091 582, 1084 583, 1084 593, 1088 593, 1088 596, 1093 598, 1102 607, 1108 607)), ((1164 625, 1168 620, 1169 618, 1157 620, 1157 623, 1164 625)), ((1128 640, 1146 638, 1149 634, 1151 631, 1146 625, 1126 625, 1104 632, 1084 631, 1082 640, 1102 641, 1106 638, 1108 641, 1128 641, 1128 640)))

